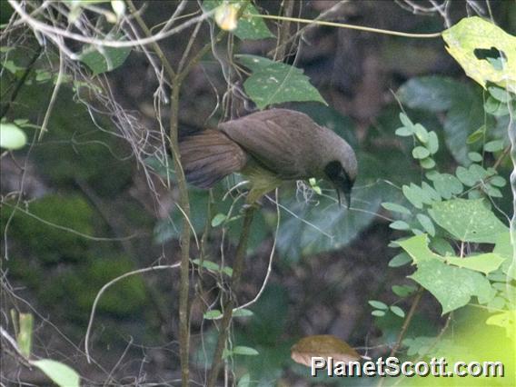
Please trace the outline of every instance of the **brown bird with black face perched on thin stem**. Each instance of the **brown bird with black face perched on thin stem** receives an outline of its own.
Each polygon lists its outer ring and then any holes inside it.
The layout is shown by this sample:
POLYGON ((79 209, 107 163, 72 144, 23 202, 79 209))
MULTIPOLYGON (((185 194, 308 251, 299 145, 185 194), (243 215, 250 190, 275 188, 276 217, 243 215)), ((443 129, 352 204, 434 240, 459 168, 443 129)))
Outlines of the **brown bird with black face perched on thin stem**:
POLYGON ((253 204, 285 181, 324 179, 343 193, 348 208, 358 166, 341 136, 307 114, 273 108, 223 122, 179 142, 186 181, 208 189, 233 173, 251 183, 253 204))

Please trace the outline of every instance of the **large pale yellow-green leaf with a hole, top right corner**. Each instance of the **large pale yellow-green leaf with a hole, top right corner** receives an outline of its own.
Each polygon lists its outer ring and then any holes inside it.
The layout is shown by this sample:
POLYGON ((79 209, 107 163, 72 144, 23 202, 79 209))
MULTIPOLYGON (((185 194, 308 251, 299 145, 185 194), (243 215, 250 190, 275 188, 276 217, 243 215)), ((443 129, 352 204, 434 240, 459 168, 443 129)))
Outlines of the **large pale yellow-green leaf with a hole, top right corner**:
POLYGON ((448 53, 482 87, 492 82, 516 93, 516 37, 481 17, 472 16, 444 31, 442 38, 448 53), (501 68, 493 66, 493 61, 488 59, 499 59, 501 68))

